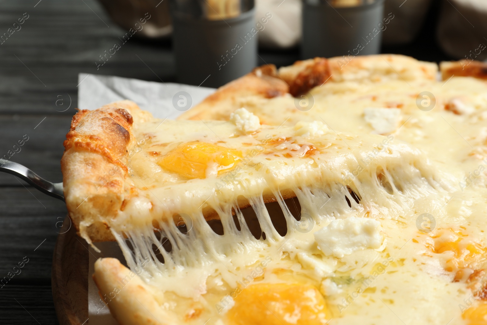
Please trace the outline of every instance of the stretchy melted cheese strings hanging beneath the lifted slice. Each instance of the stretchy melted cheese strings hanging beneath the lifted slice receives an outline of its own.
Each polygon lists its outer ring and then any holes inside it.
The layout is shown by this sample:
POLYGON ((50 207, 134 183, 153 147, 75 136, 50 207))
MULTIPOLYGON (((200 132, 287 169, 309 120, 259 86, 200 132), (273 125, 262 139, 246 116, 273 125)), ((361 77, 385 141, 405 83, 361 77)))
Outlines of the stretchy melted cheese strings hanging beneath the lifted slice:
POLYGON ((414 205, 415 199, 430 194, 436 194, 438 200, 443 202, 448 193, 445 190, 446 185, 440 185, 436 178, 437 176, 431 172, 431 166, 414 160, 410 164, 399 166, 377 165, 358 177, 344 178, 345 183, 300 186, 292 189, 300 203, 303 218, 300 221, 292 215, 280 191, 275 191, 274 195, 287 226, 284 236, 274 227, 262 195, 247 199, 255 211, 262 232, 265 233, 265 239, 256 239, 252 235, 242 211, 235 203, 212 207, 222 222, 223 235, 215 233, 210 228, 201 209, 187 216, 188 220, 184 220, 187 233, 182 233, 172 219, 153 221, 145 227, 125 231, 116 231, 112 228, 112 233, 124 253, 128 266, 132 270, 139 270, 142 266, 143 271, 137 273, 147 281, 167 277, 187 268, 212 264, 222 274, 235 275, 238 269, 244 268, 245 265, 239 264, 232 256, 262 251, 268 247, 279 248, 286 239, 292 238, 296 233, 309 232, 312 235, 315 224, 320 225, 324 221, 340 218, 345 214, 364 211, 376 213, 380 210, 387 212, 390 218, 397 218, 404 210, 414 205), (421 167, 419 169, 416 166, 421 167), (353 189, 354 194, 348 189, 353 189), (360 201, 357 204, 356 200, 359 197, 360 201), (232 211, 236 214, 240 230, 233 221, 232 211), (304 227, 303 221, 306 222, 304 227), (158 232, 160 236, 157 236, 158 232), (170 243, 170 251, 164 248, 167 246, 166 242, 170 243), (158 258, 158 254, 163 257, 163 262, 158 258))

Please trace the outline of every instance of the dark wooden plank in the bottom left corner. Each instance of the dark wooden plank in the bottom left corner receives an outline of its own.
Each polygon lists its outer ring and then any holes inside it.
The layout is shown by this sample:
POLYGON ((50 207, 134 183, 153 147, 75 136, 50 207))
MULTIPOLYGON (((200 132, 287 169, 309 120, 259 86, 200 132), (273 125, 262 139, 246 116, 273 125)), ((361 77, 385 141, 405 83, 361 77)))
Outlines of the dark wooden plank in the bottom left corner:
POLYGON ((51 286, 5 286, 0 289, 0 324, 58 325, 51 286))

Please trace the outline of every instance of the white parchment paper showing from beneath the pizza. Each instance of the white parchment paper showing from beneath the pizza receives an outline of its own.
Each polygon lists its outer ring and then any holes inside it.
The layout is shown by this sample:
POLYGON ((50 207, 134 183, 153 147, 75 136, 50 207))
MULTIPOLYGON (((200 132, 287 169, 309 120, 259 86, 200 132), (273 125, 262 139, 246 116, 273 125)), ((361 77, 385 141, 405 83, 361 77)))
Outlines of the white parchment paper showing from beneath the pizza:
MULTIPOLYGON (((152 82, 117 76, 78 75, 78 108, 94 110, 123 99, 133 100, 143 110, 158 118, 176 118, 201 102, 215 91, 213 88, 196 87, 170 82, 152 82)), ((94 262, 99 257, 115 257, 125 264, 117 243, 96 243, 101 254, 90 248, 88 270, 88 321, 90 325, 117 325, 108 306, 98 295, 92 274, 94 262)), ((110 299, 106 301, 110 304, 110 299)))

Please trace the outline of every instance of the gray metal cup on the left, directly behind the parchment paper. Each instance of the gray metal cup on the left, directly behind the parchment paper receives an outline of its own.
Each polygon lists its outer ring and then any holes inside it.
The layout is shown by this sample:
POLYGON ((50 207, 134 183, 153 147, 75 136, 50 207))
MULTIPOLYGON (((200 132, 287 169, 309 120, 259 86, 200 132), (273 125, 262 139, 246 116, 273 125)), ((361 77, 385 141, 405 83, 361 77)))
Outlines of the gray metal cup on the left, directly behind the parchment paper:
POLYGON ((172 13, 178 81, 220 87, 257 65, 255 9, 225 20, 172 13))

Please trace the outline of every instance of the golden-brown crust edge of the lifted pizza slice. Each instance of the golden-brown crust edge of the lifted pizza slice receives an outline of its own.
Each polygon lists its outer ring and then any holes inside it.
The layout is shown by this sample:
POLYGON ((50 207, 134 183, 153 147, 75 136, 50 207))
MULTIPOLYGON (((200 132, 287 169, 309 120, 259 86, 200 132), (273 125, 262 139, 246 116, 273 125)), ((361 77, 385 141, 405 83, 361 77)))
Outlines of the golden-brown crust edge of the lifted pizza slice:
POLYGON ((64 141, 61 158, 66 207, 78 234, 91 241, 114 240, 96 220, 113 217, 123 202, 128 150, 135 141, 131 101, 119 101, 94 111, 79 111, 64 141), (102 216, 100 218, 100 216, 102 216))

